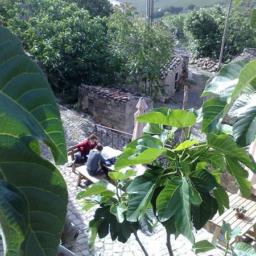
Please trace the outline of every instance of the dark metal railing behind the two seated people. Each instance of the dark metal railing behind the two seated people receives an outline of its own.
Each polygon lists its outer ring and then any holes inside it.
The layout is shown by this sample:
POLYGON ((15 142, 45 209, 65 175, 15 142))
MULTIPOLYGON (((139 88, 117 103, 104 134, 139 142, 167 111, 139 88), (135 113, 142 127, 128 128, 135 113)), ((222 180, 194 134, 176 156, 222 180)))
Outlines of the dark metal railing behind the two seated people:
POLYGON ((94 125, 93 133, 97 135, 99 142, 117 150, 123 150, 131 142, 133 134, 115 130, 102 125, 94 125))

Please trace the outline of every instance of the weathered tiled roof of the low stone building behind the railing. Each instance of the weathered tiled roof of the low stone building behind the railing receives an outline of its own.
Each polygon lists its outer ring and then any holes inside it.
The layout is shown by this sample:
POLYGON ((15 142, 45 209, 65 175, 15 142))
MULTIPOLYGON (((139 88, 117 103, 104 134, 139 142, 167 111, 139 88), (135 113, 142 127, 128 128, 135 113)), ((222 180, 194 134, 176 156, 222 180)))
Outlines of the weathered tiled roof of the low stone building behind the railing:
POLYGON ((128 102, 131 100, 139 100, 141 97, 147 97, 141 93, 129 93, 123 92, 117 88, 108 88, 101 86, 89 86, 85 84, 81 84, 82 88, 89 90, 90 92, 97 94, 98 96, 108 97, 111 100, 128 102))

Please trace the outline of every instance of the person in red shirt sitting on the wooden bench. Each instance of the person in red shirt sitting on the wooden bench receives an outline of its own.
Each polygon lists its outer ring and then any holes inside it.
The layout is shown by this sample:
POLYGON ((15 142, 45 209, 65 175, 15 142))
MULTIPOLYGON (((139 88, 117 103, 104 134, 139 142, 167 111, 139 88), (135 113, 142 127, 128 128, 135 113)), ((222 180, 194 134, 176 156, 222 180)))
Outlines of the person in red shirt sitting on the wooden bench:
POLYGON ((75 163, 84 163, 87 160, 87 155, 89 155, 90 150, 94 149, 97 146, 97 136, 92 134, 84 142, 77 145, 77 149, 80 152, 81 158, 77 158, 75 163))

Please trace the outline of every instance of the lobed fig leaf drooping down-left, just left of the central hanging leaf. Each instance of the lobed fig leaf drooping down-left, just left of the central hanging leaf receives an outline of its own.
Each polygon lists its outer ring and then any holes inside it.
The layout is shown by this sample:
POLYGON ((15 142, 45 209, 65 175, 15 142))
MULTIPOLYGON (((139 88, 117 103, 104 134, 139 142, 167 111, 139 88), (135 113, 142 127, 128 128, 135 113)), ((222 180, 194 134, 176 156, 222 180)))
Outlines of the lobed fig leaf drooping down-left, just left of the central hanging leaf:
POLYGON ((147 209, 148 203, 150 203, 151 197, 158 186, 160 174, 163 170, 148 171, 145 174, 136 177, 129 187, 127 187, 127 193, 135 194, 130 200, 127 208, 127 220, 137 221, 139 213, 144 213, 147 209))

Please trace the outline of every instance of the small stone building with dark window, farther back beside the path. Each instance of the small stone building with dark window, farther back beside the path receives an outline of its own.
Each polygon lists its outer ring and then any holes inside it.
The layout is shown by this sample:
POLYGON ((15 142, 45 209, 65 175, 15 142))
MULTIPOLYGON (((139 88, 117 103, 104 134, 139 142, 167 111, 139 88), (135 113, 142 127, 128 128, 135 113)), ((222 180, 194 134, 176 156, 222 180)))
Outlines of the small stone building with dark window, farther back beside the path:
POLYGON ((177 88, 188 79, 189 53, 184 48, 176 48, 175 55, 166 65, 165 71, 160 71, 163 90, 156 94, 156 98, 163 102, 174 96, 177 88))

